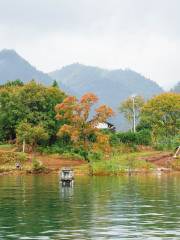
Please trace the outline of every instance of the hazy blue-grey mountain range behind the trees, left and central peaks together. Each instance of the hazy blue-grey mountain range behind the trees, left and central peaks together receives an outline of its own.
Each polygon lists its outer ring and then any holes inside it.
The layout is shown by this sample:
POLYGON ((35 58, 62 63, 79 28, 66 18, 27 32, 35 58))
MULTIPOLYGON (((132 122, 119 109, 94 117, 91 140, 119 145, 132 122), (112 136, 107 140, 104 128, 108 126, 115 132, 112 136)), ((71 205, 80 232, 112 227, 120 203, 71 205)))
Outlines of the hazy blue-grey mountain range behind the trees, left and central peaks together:
MULTIPOLYGON (((69 94, 79 97, 86 92, 93 92, 99 97, 100 103, 108 104, 115 111, 120 102, 132 94, 142 95, 147 99, 163 92, 157 83, 130 69, 110 71, 76 63, 45 74, 15 51, 3 50, 0 52, 0 84, 15 79, 24 82, 35 79, 47 85, 51 85, 56 79, 60 88, 69 94)), ((125 128, 122 116, 116 116, 112 122, 125 128)))

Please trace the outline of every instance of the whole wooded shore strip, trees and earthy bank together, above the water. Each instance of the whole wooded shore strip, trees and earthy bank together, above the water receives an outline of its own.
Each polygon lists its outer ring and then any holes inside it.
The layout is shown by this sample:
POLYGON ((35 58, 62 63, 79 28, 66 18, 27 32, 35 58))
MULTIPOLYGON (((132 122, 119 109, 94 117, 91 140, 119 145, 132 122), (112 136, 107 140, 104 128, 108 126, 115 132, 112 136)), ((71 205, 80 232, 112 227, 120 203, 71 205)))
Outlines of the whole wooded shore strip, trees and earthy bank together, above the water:
POLYGON ((149 100, 129 97, 119 106, 132 126, 120 132, 116 114, 98 97, 80 99, 56 81, 44 86, 20 80, 0 86, 0 174, 58 172, 119 175, 179 171, 180 94, 161 93, 149 100))

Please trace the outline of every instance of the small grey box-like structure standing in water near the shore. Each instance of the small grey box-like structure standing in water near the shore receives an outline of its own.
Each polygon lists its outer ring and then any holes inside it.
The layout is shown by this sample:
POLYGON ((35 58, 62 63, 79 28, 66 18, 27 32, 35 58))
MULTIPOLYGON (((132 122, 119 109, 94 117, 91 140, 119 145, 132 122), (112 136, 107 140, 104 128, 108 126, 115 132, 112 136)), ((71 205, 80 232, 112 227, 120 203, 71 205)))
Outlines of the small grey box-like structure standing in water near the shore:
POLYGON ((71 168, 62 168, 60 171, 60 181, 62 186, 72 187, 74 183, 74 171, 71 168))

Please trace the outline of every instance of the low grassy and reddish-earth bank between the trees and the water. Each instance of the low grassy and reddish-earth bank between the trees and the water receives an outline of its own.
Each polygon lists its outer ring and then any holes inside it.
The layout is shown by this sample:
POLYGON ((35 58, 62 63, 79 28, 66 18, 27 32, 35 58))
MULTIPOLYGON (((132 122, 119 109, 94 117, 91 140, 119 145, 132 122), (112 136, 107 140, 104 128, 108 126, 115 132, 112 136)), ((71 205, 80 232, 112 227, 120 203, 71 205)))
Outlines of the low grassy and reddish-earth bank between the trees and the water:
POLYGON ((58 173, 63 167, 74 169, 75 175, 113 176, 133 173, 180 170, 180 160, 171 152, 143 149, 137 152, 114 153, 106 159, 87 162, 59 154, 18 152, 13 146, 0 146, 0 174, 58 173), (20 167, 17 169, 17 163, 20 167))

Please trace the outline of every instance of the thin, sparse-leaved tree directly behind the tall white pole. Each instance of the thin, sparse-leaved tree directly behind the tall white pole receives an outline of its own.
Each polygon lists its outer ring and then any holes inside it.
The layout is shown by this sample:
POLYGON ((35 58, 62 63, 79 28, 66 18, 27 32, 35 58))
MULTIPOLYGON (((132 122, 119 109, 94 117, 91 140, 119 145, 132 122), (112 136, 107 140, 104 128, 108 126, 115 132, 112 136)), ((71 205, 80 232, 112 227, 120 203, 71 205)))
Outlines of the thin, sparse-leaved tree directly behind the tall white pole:
POLYGON ((144 103, 145 101, 143 97, 135 96, 134 103, 133 103, 133 98, 129 97, 128 99, 123 101, 119 107, 119 111, 124 114, 124 117, 131 124, 132 128, 134 124, 133 123, 134 114, 135 114, 135 120, 136 122, 138 122, 144 103))

